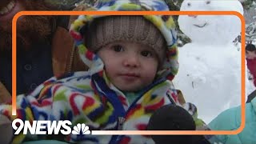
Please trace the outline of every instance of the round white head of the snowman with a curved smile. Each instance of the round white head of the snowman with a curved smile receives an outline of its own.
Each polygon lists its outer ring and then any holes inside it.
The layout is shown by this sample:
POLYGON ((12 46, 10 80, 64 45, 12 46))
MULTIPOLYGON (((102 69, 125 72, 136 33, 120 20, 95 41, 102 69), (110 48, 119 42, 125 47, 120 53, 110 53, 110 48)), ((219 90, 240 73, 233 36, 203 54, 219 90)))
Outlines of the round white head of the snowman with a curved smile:
MULTIPOLYGON (((243 14, 238 0, 184 0, 181 11, 238 11, 243 14)), ((236 15, 180 15, 178 25, 192 42, 226 44, 241 32, 241 21, 236 15)))

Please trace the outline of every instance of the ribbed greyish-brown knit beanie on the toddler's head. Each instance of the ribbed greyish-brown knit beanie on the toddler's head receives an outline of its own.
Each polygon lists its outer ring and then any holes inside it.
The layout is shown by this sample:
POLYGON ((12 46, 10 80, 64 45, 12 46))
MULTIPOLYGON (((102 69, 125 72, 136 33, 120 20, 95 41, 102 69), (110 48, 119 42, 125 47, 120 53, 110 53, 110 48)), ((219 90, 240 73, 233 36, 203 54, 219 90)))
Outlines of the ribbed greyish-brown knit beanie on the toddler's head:
POLYGON ((107 16, 96 18, 85 30, 87 49, 97 52, 110 42, 129 41, 150 46, 158 55, 159 63, 166 58, 166 40, 152 22, 142 16, 107 16))

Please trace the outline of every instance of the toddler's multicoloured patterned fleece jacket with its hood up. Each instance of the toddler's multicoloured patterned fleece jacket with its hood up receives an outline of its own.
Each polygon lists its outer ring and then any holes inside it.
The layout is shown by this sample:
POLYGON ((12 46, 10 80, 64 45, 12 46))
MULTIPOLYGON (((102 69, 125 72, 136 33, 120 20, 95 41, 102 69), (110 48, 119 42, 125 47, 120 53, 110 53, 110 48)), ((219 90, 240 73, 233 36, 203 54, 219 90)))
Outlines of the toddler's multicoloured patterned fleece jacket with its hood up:
MULTIPOLYGON (((90 10, 169 10, 161 0, 104 0, 90 10)), ((179 105, 177 90, 171 82, 178 72, 176 32, 173 18, 166 15, 143 15, 152 22, 166 39, 167 57, 156 80, 138 93, 138 98, 129 103, 126 95, 106 78, 103 62, 97 54, 86 49, 82 27, 94 18, 103 15, 80 15, 70 27, 81 58, 90 70, 62 77, 50 78, 30 94, 17 97, 17 115, 11 115, 11 106, 0 106, 0 114, 10 120, 70 120, 72 125, 85 123, 90 130, 146 130, 150 116, 167 104, 179 105)), ((44 135, 14 135, 13 142, 27 139, 42 139, 44 135)), ((52 138, 54 139, 54 138, 52 138)), ((69 134, 66 142, 92 143, 154 143, 143 135, 92 135, 69 134)))

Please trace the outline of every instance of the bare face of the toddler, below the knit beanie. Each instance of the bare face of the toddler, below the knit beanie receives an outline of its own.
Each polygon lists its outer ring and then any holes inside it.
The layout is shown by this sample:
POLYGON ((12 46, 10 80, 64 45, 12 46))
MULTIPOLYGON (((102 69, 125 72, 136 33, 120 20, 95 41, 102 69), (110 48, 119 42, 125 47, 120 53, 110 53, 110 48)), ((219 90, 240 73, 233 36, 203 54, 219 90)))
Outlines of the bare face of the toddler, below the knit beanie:
POLYGON ((98 51, 106 75, 119 90, 133 92, 153 82, 158 56, 149 46, 135 42, 111 42, 98 51))

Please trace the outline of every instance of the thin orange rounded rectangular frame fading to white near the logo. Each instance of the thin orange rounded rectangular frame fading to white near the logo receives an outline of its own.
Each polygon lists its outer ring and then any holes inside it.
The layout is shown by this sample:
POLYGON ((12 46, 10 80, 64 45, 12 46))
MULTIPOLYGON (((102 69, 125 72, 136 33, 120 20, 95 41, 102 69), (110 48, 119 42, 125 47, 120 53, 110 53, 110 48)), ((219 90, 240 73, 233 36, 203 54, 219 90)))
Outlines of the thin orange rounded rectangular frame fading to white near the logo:
POLYGON ((240 18, 242 26, 242 78, 241 78, 241 126, 237 130, 92 130, 91 134, 238 134, 245 127, 245 27, 246 22, 242 14, 236 11, 20 11, 14 15, 12 21, 12 115, 16 115, 16 23, 23 15, 235 15, 240 18))

